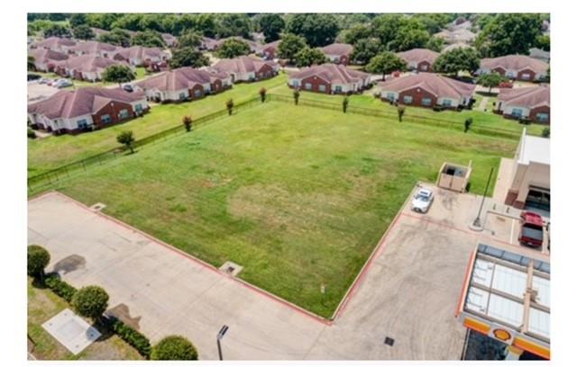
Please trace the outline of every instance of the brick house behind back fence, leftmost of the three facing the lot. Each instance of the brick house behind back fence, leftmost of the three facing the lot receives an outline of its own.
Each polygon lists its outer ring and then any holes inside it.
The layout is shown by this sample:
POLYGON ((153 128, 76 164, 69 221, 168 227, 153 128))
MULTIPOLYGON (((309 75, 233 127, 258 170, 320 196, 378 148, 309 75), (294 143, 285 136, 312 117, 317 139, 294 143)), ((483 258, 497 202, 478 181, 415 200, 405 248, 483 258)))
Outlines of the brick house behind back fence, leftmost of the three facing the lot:
POLYGON ((289 87, 325 94, 359 93, 371 85, 371 74, 343 65, 304 67, 289 76, 289 87))

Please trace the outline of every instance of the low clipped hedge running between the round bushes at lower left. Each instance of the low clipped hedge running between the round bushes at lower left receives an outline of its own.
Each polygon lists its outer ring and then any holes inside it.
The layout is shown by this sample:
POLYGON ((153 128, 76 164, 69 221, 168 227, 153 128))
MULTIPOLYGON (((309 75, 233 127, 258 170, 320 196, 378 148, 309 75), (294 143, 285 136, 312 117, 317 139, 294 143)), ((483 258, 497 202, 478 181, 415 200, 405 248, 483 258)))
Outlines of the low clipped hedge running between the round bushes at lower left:
MULTIPOLYGON (((49 274, 44 281, 46 286, 53 291, 57 296, 70 303, 72 297, 77 292, 77 289, 69 283, 62 281, 57 274, 49 274)), ((103 327, 111 328, 114 333, 124 340, 129 345, 132 345, 138 353, 146 358, 151 356, 151 341, 143 336, 140 332, 134 330, 132 327, 124 324, 117 318, 109 318, 103 327)))

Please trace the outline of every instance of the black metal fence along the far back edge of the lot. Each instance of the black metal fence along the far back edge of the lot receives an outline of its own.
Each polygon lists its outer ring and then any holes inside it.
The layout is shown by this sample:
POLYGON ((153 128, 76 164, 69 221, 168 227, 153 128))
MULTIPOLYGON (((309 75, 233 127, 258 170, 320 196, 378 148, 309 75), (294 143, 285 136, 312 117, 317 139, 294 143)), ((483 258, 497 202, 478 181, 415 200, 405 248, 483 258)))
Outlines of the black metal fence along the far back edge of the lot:
MULTIPOLYGON (((293 103, 294 98, 287 96, 287 95, 280 95, 280 94, 268 94, 270 101, 278 101, 284 103, 293 103)), ((316 107, 316 108, 323 108, 325 110, 332 110, 332 111, 343 111, 343 105, 341 103, 330 103, 325 101, 316 101, 310 100, 306 98, 299 98, 298 105, 308 106, 308 107, 316 107)), ((347 113, 355 113, 355 114, 362 114, 365 116, 372 116, 372 117, 385 117, 389 119, 398 119, 397 112, 391 112, 386 110, 380 110, 377 108, 369 108, 369 107, 358 107, 352 106, 349 104, 346 109, 347 113)), ((403 122, 412 122, 418 123, 427 126, 435 126, 441 127, 451 130, 463 130, 464 129, 464 118, 463 122, 460 121, 453 121, 453 120, 445 120, 439 119, 435 117, 425 117, 419 116, 415 114, 411 114, 410 112, 406 111, 403 115, 403 122)), ((508 139, 518 139, 521 136, 521 131, 517 130, 508 130, 508 129, 499 129, 493 127, 486 127, 480 126, 473 123, 472 127, 470 128, 469 132, 482 134, 482 135, 490 135, 493 137, 500 137, 500 138, 508 138, 508 139)))

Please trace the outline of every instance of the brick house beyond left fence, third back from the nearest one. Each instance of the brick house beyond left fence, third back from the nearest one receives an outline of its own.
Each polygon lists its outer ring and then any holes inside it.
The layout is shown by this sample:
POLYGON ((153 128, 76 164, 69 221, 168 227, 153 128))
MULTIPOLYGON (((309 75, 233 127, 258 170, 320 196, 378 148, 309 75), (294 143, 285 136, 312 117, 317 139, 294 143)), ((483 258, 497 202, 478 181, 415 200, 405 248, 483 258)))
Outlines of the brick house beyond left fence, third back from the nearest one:
POLYGON ((211 69, 228 74, 233 83, 253 82, 276 76, 279 73, 279 64, 259 58, 240 56, 238 58, 222 58, 211 69))

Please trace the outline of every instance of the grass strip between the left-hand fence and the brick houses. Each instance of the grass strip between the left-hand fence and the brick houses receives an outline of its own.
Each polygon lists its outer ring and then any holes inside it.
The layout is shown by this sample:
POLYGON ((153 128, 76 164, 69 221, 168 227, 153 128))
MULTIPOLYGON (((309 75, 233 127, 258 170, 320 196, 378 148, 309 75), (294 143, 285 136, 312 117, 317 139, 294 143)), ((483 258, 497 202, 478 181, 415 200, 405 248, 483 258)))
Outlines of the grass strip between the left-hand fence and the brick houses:
POLYGON ((272 88, 286 83, 286 76, 251 84, 238 84, 221 94, 209 95, 202 100, 188 103, 160 104, 142 118, 128 121, 107 129, 73 135, 51 136, 46 139, 28 139, 28 175, 39 175, 83 158, 94 156, 118 147, 116 136, 122 130, 133 130, 136 139, 146 138, 162 130, 181 124, 184 115, 193 119, 225 109, 224 103, 235 103, 259 96, 261 87, 272 88))

